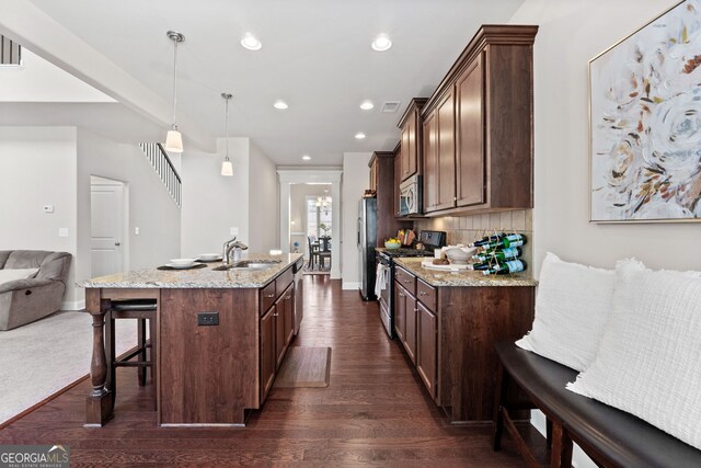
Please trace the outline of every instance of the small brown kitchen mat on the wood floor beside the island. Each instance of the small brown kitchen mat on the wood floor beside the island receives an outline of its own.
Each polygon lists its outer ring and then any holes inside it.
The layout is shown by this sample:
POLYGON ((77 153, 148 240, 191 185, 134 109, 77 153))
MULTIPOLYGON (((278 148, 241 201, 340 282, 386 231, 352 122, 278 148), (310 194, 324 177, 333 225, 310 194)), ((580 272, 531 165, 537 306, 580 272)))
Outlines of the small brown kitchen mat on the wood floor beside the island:
POLYGON ((291 346, 273 387, 327 387, 331 347, 291 346))

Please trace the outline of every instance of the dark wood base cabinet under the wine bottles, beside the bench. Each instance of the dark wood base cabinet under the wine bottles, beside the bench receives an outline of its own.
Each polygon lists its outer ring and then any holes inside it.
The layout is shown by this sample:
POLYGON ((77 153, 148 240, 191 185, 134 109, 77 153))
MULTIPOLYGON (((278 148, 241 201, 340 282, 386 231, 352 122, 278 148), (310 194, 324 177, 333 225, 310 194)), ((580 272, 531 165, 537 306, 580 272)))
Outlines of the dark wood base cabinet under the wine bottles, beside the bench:
POLYGON ((491 421, 494 345, 530 329, 535 286, 434 287, 404 269, 395 272, 395 289, 403 295, 395 309, 403 321, 400 341, 426 390, 453 423, 491 421))

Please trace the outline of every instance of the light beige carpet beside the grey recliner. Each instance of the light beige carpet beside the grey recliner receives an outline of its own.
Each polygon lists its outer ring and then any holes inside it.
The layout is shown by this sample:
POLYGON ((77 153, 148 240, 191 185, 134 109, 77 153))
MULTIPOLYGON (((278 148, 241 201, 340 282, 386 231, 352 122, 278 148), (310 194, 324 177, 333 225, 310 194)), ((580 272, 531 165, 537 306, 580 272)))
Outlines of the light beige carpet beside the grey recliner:
MULTIPOLYGON (((117 355, 136 346, 136 320, 117 320, 117 355)), ((92 317, 56 312, 0 331, 0 423, 90 374, 92 317)), ((87 395, 85 395, 87 396, 87 395)))

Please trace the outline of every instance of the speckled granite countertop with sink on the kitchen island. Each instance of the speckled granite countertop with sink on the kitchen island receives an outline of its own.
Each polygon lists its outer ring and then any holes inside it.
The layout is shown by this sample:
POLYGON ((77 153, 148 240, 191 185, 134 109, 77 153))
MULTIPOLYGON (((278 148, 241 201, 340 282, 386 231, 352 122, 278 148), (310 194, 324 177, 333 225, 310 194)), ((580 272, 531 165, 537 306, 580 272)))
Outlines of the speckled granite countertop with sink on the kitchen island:
POLYGON ((268 269, 250 272, 241 270, 217 272, 212 270, 216 266, 220 266, 221 262, 206 263, 206 267, 194 270, 157 270, 151 267, 101 276, 88 279, 79 285, 82 287, 114 288, 261 288, 275 279, 301 256, 301 253, 283 255, 249 253, 244 254, 241 260, 280 260, 280 263, 273 263, 273 266, 268 269))

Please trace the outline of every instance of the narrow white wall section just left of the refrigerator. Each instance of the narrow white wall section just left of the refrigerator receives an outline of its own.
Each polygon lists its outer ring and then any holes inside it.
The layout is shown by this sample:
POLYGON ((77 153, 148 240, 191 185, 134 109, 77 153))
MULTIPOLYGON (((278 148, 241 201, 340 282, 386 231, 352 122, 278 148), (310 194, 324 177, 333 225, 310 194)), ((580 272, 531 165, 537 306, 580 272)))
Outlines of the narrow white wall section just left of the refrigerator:
POLYGON ((371 152, 343 153, 343 183, 341 187, 341 219, 343 229, 341 278, 344 289, 358 289, 358 249, 356 221, 358 202, 369 184, 368 162, 371 152))

